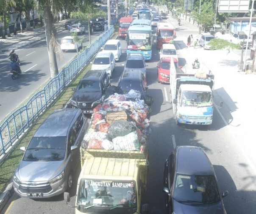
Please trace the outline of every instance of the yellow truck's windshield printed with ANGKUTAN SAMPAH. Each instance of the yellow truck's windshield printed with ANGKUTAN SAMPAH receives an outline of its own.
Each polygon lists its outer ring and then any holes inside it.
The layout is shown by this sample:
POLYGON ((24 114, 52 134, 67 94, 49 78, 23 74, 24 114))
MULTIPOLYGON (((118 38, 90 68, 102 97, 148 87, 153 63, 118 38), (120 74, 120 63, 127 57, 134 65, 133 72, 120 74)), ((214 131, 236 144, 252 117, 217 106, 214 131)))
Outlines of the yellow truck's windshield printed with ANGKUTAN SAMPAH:
POLYGON ((136 207, 135 181, 101 181, 81 179, 78 189, 80 206, 136 207))

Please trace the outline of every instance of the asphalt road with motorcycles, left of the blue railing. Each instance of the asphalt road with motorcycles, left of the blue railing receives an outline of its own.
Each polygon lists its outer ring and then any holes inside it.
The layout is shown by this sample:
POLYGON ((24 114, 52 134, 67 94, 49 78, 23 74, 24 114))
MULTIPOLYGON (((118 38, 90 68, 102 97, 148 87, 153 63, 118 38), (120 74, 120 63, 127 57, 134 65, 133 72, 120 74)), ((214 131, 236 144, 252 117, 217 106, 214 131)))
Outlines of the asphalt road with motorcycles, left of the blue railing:
MULTIPOLYGON (((89 44, 87 32, 88 30, 86 30, 85 36, 87 39, 83 46, 89 44)), ((101 33, 102 31, 93 32, 91 35, 92 41, 101 33)), ((61 42, 61 38, 67 35, 70 34, 67 30, 64 30, 63 26, 63 31, 59 31, 57 35, 58 43, 61 42)), ((21 61, 22 76, 15 80, 12 80, 10 75, 9 53, 0 53, 0 121, 50 78, 49 57, 45 39, 22 49, 17 49, 16 53, 21 61)), ((58 69, 60 70, 75 55, 76 51, 66 51, 61 57, 57 58, 58 69)))

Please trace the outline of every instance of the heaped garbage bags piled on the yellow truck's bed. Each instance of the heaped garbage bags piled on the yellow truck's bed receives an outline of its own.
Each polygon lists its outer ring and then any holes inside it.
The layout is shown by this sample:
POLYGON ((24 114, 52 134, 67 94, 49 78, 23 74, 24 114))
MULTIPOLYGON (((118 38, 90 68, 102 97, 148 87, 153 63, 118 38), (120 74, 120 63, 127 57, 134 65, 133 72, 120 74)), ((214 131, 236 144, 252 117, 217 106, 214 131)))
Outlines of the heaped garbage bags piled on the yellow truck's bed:
POLYGON ((143 152, 150 133, 150 107, 145 100, 152 105, 152 97, 135 90, 130 90, 128 94, 108 95, 94 109, 91 126, 81 147, 143 152), (109 120, 108 114, 111 112, 120 113, 121 116, 117 120, 109 120))

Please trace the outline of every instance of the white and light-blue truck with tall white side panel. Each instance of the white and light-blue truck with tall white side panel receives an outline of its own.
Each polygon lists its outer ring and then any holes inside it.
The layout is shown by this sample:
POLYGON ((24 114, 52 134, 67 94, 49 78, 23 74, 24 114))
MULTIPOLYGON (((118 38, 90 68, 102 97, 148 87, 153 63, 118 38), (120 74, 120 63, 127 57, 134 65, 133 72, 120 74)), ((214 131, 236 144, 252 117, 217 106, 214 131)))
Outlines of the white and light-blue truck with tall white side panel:
POLYGON ((175 68, 171 60, 170 100, 177 125, 211 125, 213 89, 214 75, 206 66, 199 69, 175 68))

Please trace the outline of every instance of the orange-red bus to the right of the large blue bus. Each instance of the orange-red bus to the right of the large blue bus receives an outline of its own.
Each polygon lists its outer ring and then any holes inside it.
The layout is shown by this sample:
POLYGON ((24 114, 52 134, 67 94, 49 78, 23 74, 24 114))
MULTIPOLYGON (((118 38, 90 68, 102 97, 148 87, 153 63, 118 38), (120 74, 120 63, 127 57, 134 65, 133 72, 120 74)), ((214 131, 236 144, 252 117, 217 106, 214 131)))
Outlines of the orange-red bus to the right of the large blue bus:
POLYGON ((163 44, 169 43, 176 35, 175 27, 167 22, 160 22, 156 28, 156 44, 161 49, 163 44))

